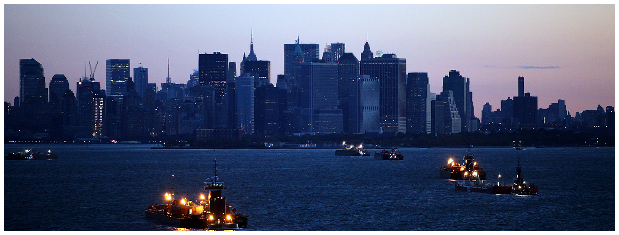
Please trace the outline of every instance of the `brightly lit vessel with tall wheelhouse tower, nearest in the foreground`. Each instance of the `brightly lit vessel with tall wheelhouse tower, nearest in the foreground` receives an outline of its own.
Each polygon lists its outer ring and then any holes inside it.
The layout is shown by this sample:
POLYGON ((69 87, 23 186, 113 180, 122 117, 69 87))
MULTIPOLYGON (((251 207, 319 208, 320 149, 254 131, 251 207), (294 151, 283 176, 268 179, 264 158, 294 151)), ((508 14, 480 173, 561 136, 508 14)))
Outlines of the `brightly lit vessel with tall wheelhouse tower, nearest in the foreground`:
POLYGON ((236 208, 226 205, 222 190, 227 189, 217 176, 217 160, 215 160, 215 176, 210 182, 204 182, 204 190, 208 190, 208 198, 201 195, 200 203, 187 199, 173 200, 174 192, 165 194, 165 205, 151 205, 146 208, 146 218, 160 223, 171 224, 178 228, 207 228, 211 230, 234 230, 247 228, 247 216, 236 213, 236 208), (172 201, 170 203, 170 201, 172 201))

